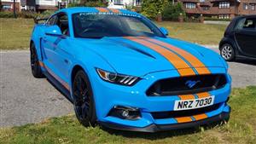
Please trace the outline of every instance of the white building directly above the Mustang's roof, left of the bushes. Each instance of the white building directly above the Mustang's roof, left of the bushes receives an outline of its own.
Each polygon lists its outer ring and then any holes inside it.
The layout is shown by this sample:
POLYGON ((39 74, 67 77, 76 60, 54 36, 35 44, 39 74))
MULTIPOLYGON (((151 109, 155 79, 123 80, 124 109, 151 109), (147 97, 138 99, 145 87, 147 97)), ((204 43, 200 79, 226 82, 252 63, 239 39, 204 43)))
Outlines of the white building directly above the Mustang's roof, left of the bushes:
POLYGON ((108 0, 110 9, 126 9, 127 7, 140 7, 143 0, 108 0))

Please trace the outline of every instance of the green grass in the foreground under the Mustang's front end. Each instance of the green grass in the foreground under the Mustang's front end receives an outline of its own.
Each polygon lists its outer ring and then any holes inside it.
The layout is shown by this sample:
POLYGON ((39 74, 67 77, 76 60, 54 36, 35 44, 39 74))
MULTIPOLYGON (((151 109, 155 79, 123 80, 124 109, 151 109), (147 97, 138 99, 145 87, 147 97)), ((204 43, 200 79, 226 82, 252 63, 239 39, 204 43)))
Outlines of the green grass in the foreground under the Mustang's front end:
POLYGON ((230 122, 212 128, 155 134, 84 128, 73 115, 50 118, 40 124, 0 129, 0 143, 255 143, 256 86, 233 89, 230 122))

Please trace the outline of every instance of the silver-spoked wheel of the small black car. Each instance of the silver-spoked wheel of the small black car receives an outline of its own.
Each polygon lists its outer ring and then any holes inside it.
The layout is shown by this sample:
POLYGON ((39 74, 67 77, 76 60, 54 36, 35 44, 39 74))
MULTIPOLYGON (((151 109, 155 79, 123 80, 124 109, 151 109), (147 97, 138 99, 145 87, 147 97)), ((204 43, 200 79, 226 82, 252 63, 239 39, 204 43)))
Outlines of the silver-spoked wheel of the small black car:
POLYGON ((232 61, 235 60, 235 50, 229 43, 225 43, 220 49, 220 55, 224 60, 232 61))

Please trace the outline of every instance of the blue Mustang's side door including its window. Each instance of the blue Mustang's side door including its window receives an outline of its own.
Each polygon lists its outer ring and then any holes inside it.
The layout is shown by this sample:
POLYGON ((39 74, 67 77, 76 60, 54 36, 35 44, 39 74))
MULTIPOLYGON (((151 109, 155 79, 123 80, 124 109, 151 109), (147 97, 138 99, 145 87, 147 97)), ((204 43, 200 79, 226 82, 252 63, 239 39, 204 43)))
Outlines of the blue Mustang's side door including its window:
POLYGON ((71 55, 69 53, 71 46, 69 43, 70 37, 67 14, 55 14, 54 25, 60 27, 63 36, 45 35, 45 65, 48 66, 49 73, 67 88, 68 70, 71 66, 71 55))

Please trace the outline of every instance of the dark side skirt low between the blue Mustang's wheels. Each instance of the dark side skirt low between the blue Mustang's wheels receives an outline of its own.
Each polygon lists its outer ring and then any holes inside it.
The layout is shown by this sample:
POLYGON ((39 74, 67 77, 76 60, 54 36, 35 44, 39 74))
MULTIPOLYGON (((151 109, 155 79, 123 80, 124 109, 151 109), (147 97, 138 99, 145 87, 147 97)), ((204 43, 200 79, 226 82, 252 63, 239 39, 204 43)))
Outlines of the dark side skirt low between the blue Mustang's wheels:
POLYGON ((59 81, 57 81, 49 72, 44 71, 44 76, 47 78, 50 84, 52 84, 55 89, 57 89, 62 95, 64 95, 68 101, 72 102, 69 90, 67 90, 59 81))

